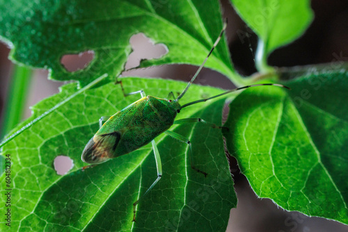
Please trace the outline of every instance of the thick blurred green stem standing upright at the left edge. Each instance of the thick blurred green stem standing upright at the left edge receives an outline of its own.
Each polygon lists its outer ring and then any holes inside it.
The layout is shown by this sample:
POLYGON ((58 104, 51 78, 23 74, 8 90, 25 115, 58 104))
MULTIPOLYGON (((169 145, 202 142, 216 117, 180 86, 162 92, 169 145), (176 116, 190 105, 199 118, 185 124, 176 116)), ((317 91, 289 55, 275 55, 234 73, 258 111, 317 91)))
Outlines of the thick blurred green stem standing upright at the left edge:
POLYGON ((13 74, 10 79, 10 90, 8 91, 3 115, 3 126, 1 138, 22 120, 26 96, 31 81, 31 69, 29 67, 14 65, 13 74))

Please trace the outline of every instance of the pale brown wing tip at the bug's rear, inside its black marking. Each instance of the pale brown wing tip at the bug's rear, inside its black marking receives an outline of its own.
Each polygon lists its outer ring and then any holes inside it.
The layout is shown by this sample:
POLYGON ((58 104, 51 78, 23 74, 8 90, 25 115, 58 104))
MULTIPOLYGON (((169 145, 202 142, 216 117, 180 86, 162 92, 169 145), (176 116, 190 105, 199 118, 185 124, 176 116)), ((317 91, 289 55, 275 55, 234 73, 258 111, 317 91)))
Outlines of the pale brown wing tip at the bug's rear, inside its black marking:
POLYGON ((104 163, 109 160, 109 151, 101 146, 100 142, 95 142, 95 136, 91 138, 81 156, 82 161, 90 164, 104 163))

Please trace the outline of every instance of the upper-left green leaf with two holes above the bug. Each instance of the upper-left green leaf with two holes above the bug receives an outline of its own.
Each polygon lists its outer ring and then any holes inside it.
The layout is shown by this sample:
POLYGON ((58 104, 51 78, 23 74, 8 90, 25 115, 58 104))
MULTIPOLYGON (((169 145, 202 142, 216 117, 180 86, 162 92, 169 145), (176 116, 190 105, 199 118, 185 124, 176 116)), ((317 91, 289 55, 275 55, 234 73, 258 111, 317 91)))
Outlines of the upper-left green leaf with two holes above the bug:
MULTIPOLYGON (((186 63, 200 65, 222 28, 219 1, 0 1, 0 38, 20 63, 51 70, 50 78, 83 85, 104 73, 118 76, 132 48, 129 38, 145 33, 168 54, 141 67, 186 63), (68 72, 65 54, 94 51, 88 67, 68 72)), ((206 67, 233 78, 226 40, 206 67)))

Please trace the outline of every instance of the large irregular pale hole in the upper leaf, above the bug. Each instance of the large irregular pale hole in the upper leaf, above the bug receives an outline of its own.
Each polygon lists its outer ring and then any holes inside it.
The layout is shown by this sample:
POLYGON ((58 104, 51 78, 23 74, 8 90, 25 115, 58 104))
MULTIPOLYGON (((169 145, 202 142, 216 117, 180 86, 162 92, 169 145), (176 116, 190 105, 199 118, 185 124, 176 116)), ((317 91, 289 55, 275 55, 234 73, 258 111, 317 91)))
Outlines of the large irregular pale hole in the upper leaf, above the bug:
POLYGON ((140 61, 143 59, 161 58, 168 53, 168 48, 164 44, 154 44, 150 38, 146 37, 143 33, 133 35, 129 39, 129 43, 132 46, 132 53, 130 53, 125 69, 131 69, 132 67, 138 67, 140 61))

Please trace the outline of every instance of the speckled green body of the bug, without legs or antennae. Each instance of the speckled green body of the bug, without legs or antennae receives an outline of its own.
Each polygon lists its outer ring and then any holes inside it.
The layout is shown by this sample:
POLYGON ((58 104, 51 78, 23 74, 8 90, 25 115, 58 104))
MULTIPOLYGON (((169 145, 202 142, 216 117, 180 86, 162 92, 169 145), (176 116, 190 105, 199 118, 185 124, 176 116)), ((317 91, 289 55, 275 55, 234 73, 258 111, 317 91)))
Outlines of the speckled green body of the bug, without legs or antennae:
POLYGON ((87 163, 101 163, 132 152, 168 130, 179 103, 147 96, 110 117, 84 149, 87 163))

